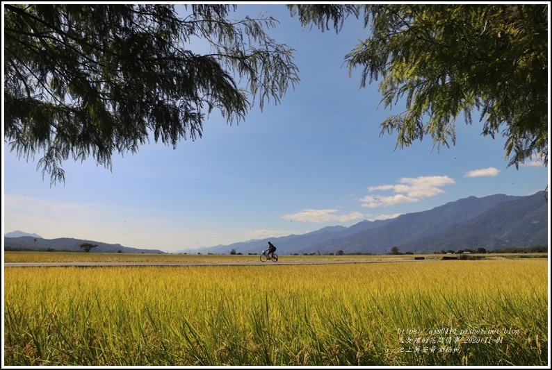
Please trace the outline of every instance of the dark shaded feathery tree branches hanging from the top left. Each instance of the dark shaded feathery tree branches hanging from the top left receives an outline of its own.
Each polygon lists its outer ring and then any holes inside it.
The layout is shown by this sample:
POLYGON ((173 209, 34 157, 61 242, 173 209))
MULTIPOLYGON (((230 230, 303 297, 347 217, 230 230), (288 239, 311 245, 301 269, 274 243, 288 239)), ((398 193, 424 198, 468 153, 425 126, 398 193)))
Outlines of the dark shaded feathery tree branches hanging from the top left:
POLYGON ((4 140, 42 176, 63 161, 149 141, 202 136, 206 115, 229 124, 279 99, 298 78, 293 50, 265 33, 275 19, 233 21, 235 6, 4 4, 4 140), (211 51, 197 53, 194 44, 211 51), (245 81, 241 84, 241 79, 245 81))

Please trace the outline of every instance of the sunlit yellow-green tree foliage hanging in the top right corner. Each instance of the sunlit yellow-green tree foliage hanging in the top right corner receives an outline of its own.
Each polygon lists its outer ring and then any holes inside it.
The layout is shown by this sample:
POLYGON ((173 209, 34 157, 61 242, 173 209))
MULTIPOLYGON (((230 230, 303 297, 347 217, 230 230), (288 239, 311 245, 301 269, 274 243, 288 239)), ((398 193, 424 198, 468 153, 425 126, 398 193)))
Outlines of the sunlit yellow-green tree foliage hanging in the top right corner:
POLYGON ((455 144, 455 121, 480 112, 482 135, 501 133, 508 166, 528 158, 548 164, 548 6, 290 5, 300 22, 341 30, 364 15, 370 35, 347 56, 362 67, 361 86, 382 78, 385 108, 405 98, 406 110, 385 119, 401 149, 430 135, 455 144))

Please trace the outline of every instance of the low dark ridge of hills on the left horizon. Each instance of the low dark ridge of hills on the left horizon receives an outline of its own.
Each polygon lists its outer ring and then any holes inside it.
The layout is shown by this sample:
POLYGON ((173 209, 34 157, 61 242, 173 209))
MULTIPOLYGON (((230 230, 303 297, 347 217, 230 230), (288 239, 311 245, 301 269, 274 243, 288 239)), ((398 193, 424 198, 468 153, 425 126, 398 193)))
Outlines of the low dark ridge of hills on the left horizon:
POLYGON ((54 249, 56 251, 82 251, 81 244, 96 244, 97 247, 90 249, 90 253, 165 253, 159 249, 138 249, 121 244, 108 244, 92 240, 73 239, 60 237, 58 239, 38 239, 35 237, 4 237, 3 249, 33 249, 36 251, 54 249))

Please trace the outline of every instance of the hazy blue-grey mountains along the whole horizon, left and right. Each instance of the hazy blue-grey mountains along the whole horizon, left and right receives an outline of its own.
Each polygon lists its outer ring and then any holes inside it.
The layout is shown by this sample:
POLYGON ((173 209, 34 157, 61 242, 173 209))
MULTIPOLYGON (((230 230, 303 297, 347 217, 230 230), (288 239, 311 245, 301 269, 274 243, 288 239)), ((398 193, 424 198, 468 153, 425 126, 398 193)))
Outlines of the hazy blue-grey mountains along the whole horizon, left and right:
MULTIPOLYGON (((365 220, 350 227, 328 226, 302 235, 254 239, 174 253, 261 253, 268 246, 268 241, 273 242, 277 253, 282 255, 337 251, 384 254, 389 253, 393 246, 398 247, 400 253, 439 253, 478 248, 492 251, 508 247, 548 246, 548 226, 547 192, 530 196, 495 194, 482 198, 470 196, 394 219, 365 220)), ((90 252, 164 253, 158 249, 138 249, 83 239, 42 239, 36 234, 21 231, 4 235, 4 249, 80 251, 80 244, 85 242, 97 244, 90 252)))

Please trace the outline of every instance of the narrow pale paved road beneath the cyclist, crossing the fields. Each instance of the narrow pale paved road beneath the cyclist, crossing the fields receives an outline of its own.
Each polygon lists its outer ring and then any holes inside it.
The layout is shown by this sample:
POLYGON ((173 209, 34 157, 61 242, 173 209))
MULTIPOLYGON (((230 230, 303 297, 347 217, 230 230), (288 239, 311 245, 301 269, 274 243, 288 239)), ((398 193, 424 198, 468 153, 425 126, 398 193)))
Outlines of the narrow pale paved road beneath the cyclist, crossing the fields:
POLYGON ((341 264, 376 262, 419 262, 429 260, 367 260, 367 261, 282 261, 279 262, 5 262, 4 267, 104 267, 104 266, 244 266, 277 264, 341 264))

